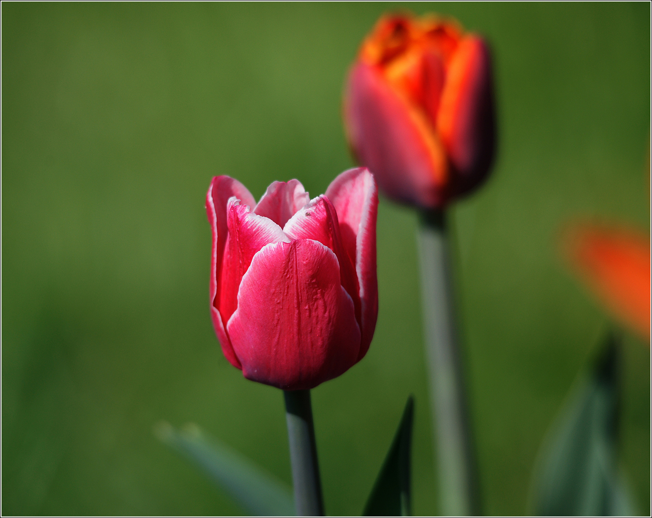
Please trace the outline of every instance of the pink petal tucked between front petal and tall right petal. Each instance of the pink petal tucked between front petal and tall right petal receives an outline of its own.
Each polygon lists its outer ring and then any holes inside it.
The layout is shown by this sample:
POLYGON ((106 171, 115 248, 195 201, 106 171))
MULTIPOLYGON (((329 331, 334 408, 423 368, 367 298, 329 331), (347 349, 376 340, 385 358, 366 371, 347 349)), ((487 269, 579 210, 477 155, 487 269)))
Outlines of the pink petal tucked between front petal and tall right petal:
POLYGON ((342 244, 340 223, 333 203, 324 195, 316 197, 289 219, 283 232, 292 239, 314 239, 333 250, 340 264, 342 287, 353 299, 355 318, 361 324, 358 279, 353 266, 355 256, 351 257, 342 244))

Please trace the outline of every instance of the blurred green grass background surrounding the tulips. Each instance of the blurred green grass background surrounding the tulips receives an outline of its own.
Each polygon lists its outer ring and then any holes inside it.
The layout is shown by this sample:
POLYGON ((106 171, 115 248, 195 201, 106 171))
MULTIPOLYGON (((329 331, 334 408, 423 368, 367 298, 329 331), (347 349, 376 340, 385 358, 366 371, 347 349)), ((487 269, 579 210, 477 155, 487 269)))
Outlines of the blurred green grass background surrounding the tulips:
MULTIPOLYGON (((379 14, 486 35, 499 153, 452 209, 484 511, 526 511, 541 440, 609 324, 557 252, 582 216, 649 230, 649 4, 2 6, 2 512, 241 513, 155 439, 195 422, 288 484, 280 391, 220 353, 213 175, 312 195, 352 165, 344 74, 379 14)), ((412 210, 382 199, 363 362, 313 391, 329 514, 360 513, 409 393, 437 510, 412 210)), ((649 346, 625 340, 621 465, 649 513, 649 346)))

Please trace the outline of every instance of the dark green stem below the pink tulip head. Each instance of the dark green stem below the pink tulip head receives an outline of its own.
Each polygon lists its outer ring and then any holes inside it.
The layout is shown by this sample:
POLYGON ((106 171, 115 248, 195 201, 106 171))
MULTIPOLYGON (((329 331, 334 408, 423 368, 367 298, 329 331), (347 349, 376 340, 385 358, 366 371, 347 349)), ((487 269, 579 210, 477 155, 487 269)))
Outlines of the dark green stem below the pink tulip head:
POLYGON ((292 465, 297 516, 323 516, 315 427, 310 390, 283 392, 288 421, 289 458, 292 465))

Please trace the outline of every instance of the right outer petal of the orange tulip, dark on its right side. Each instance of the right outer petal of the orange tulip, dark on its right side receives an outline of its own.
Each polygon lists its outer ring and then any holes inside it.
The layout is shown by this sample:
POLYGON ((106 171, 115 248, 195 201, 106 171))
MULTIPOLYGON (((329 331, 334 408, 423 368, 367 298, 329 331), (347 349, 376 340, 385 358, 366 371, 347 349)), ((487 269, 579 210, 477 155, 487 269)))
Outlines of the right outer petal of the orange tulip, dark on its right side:
POLYGON ((462 194, 484 178, 494 155, 494 102, 489 49, 479 36, 462 39, 449 64, 437 113, 437 132, 462 194))

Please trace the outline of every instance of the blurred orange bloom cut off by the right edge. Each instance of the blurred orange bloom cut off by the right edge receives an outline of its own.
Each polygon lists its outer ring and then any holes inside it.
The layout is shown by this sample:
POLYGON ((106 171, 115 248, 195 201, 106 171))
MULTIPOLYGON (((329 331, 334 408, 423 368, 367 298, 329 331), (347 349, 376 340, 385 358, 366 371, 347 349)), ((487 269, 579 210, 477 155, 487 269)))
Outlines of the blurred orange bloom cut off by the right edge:
POLYGON ((578 225, 567 235, 567 255, 610 313, 649 339, 649 238, 622 227, 578 225))

